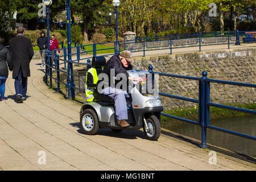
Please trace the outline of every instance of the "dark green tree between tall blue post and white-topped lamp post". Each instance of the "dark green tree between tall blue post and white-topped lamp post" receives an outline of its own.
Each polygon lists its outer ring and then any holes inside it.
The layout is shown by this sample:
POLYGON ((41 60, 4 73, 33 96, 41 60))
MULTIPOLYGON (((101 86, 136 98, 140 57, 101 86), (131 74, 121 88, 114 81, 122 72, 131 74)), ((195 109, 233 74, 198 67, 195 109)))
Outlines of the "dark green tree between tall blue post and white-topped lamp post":
MULTIPOLYGON (((111 1, 112 2, 112 1, 111 1)), ((71 9, 77 14, 82 15, 84 24, 84 40, 88 42, 88 25, 104 22, 105 12, 110 10, 108 0, 72 0, 71 9)))

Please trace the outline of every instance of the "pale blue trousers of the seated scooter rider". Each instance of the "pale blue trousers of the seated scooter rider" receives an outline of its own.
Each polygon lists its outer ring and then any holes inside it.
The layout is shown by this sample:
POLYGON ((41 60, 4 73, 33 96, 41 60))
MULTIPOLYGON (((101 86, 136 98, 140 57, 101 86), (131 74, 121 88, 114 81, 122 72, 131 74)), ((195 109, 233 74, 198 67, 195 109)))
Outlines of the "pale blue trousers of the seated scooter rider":
POLYGON ((126 91, 108 87, 102 90, 102 94, 109 96, 114 100, 117 120, 128 119, 127 104, 131 104, 131 97, 126 91))

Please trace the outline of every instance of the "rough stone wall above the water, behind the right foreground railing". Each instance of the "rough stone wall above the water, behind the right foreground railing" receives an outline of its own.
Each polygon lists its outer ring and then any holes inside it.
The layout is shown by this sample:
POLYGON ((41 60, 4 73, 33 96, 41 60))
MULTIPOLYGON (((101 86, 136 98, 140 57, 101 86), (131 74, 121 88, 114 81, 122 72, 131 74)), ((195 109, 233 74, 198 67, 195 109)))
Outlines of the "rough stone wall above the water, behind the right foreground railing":
MULTIPOLYGON (((134 69, 154 67, 155 72, 256 84, 256 48, 184 53, 165 56, 135 57, 134 69)), ((199 81, 159 76, 159 91, 198 100, 199 81)), ((162 97, 162 96, 161 96, 162 97)), ((196 106, 195 103, 162 97, 164 108, 196 106)), ((217 104, 256 103, 254 88, 210 84, 210 102, 217 104)))

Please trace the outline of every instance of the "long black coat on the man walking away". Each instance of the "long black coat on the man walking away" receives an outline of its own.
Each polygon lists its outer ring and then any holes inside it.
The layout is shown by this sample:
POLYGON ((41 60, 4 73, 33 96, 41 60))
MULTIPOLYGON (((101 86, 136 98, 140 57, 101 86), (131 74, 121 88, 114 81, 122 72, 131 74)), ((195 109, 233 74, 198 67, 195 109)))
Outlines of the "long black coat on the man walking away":
POLYGON ((23 77, 30 76, 30 61, 34 55, 31 40, 18 34, 9 41, 9 51, 13 60, 13 78, 19 74, 22 68, 23 77))

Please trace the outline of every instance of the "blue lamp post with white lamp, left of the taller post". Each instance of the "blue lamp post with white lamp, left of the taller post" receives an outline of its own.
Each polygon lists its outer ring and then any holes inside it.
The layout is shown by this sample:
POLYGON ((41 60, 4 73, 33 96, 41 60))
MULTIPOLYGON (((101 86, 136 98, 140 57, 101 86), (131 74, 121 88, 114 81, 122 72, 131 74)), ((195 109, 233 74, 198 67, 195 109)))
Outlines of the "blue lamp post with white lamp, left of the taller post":
MULTIPOLYGON (((44 5, 46 5, 46 15, 47 15, 47 51, 46 51, 46 84, 47 84, 47 73, 49 72, 48 64, 49 64, 49 56, 51 56, 51 52, 49 50, 49 6, 52 4, 52 0, 43 0, 44 5)), ((48 73, 49 74, 49 73, 48 73)))

